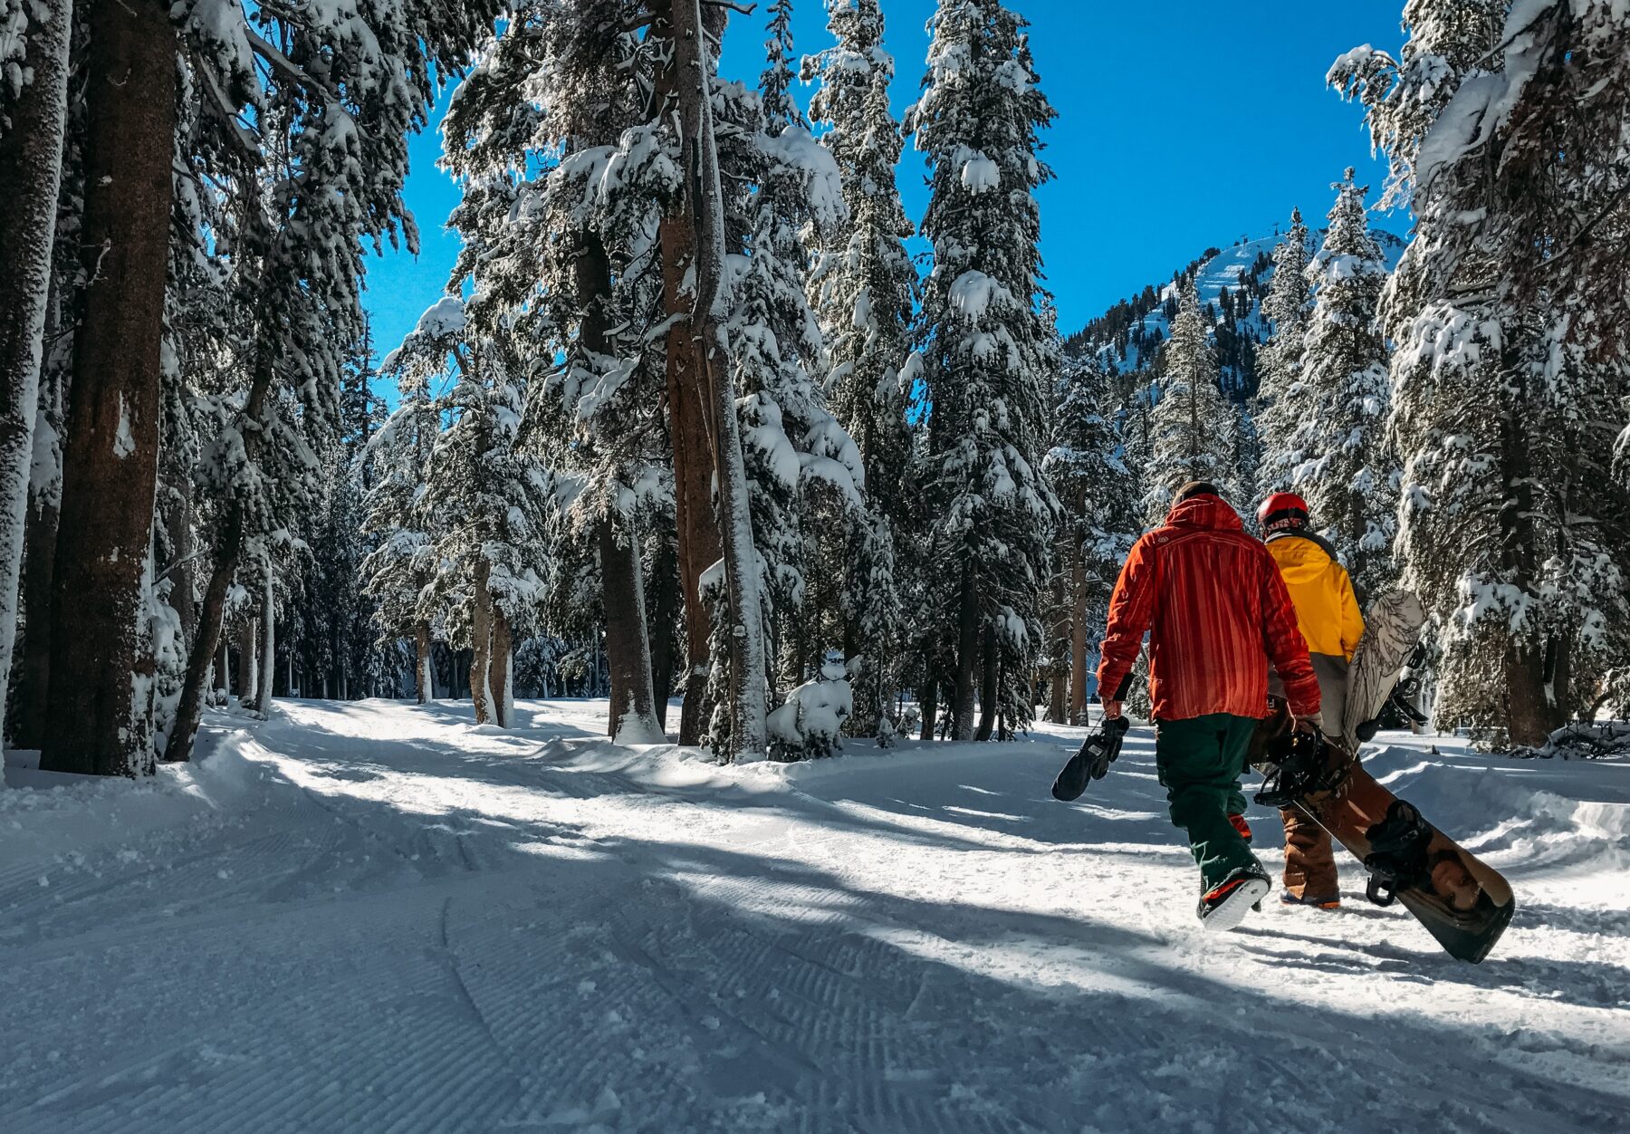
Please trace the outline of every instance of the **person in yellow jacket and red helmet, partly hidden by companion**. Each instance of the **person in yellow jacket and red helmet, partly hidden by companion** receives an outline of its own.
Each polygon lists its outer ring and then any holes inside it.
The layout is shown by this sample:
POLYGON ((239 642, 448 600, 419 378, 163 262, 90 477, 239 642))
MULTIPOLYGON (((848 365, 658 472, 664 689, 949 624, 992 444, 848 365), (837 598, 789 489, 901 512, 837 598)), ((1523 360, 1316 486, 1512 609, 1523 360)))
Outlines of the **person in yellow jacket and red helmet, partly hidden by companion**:
MULTIPOLYGON (((1319 676, 1324 730, 1341 735, 1346 712, 1346 670, 1364 634, 1353 580, 1335 549, 1307 523, 1307 502, 1294 492, 1275 492, 1257 510, 1268 554, 1280 565, 1296 608, 1296 624, 1307 640, 1307 657, 1319 676)), ((1330 834, 1302 811, 1280 811, 1284 821, 1284 893, 1294 906, 1337 909, 1341 888, 1330 834)))

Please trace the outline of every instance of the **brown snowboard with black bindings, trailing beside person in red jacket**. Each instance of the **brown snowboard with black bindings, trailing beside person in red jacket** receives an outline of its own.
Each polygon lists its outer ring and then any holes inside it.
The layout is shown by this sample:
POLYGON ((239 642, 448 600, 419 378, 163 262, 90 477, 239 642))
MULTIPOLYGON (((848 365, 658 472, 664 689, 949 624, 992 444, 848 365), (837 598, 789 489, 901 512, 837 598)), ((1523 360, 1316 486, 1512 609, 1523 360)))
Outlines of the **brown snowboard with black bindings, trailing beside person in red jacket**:
POLYGON ((1369 899, 1415 914, 1438 943, 1478 963, 1516 912, 1511 885, 1364 771, 1343 745, 1297 735, 1283 702, 1257 727, 1250 763, 1268 777, 1257 802, 1294 805, 1371 873, 1369 899))

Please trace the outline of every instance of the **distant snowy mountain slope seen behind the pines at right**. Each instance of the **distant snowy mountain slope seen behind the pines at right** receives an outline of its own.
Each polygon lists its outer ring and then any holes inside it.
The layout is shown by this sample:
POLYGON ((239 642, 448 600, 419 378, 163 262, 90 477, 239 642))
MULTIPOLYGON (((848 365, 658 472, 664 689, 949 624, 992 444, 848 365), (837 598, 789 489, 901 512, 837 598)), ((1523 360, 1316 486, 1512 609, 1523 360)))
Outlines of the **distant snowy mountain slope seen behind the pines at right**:
MULTIPOLYGON (((1397 267, 1405 241, 1381 228, 1372 233, 1387 257, 1387 267, 1397 267)), ((1069 336, 1064 341, 1066 354, 1082 360, 1095 358, 1115 373, 1152 365, 1161 344, 1170 336, 1177 310, 1175 277, 1195 274, 1200 303, 1218 324, 1214 345, 1222 386, 1253 391, 1257 347, 1271 334, 1262 316, 1262 300, 1273 282, 1273 249, 1283 240, 1283 233, 1275 233, 1240 240, 1229 248, 1206 249, 1174 272, 1174 279, 1144 287, 1069 336)), ((1312 240, 1317 248, 1324 231, 1315 231, 1312 240)))

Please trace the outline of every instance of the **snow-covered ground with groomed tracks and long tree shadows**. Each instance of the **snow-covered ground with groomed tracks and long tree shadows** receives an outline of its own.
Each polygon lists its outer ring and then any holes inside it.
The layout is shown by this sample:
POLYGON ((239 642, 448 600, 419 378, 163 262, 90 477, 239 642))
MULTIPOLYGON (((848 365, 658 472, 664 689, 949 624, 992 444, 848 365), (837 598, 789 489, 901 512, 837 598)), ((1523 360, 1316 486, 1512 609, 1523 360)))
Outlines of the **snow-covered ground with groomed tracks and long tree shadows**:
POLYGON ((1146 730, 1063 805, 1081 730, 719 769, 603 712, 10 769, 0 1131, 1625 1129, 1627 764, 1371 758, 1516 886, 1469 966, 1351 860, 1343 911, 1203 937, 1146 730))

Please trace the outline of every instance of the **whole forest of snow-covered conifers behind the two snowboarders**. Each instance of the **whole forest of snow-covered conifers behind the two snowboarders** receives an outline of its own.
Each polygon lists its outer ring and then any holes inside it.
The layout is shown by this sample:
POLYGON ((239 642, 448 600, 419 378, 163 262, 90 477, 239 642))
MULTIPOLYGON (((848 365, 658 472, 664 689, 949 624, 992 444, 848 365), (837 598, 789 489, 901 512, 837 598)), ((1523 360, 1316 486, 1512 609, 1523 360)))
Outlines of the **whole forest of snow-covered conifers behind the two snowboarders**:
POLYGON ((807 55, 791 0, 743 8, 0 0, 13 746, 143 776, 215 704, 505 727, 517 688, 722 759, 1004 738, 1081 717, 1120 562, 1192 479, 1247 516, 1296 490, 1361 598, 1421 596, 1439 728, 1623 712, 1623 3, 1408 0, 1402 52, 1328 73, 1387 182, 1291 218, 1250 352, 1195 266, 1133 367, 1055 326, 1017 13, 941 0, 896 116, 879 0, 828 0, 807 55), (763 72, 719 73, 766 26, 763 72), (463 251, 378 344, 442 83, 461 202, 419 223, 463 251))

